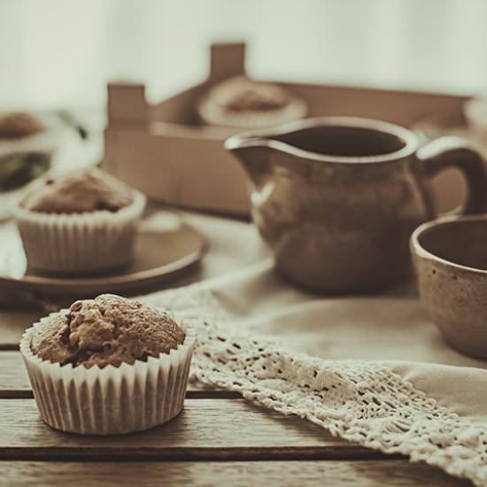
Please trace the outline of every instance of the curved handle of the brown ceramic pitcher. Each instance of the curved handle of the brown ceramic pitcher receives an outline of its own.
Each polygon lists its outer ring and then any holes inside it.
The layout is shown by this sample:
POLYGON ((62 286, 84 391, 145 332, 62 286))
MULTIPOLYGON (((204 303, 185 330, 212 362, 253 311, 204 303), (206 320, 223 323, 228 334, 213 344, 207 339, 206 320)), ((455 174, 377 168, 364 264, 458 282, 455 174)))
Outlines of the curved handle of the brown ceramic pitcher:
POLYGON ((487 181, 483 157, 460 137, 440 137, 426 143, 416 153, 424 174, 433 177, 443 169, 454 167, 465 177, 468 193, 461 214, 485 213, 487 210, 487 181))

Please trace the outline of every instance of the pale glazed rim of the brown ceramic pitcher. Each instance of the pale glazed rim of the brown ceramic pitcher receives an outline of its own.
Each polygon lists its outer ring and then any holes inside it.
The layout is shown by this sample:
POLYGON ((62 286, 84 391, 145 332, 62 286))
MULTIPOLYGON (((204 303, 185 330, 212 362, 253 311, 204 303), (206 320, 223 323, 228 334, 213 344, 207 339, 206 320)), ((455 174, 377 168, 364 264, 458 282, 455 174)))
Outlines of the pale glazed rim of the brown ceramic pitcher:
POLYGON ((283 123, 274 128, 256 129, 243 134, 233 135, 225 141, 225 148, 228 151, 237 148, 262 146, 274 148, 276 150, 285 151, 292 155, 302 158, 309 158, 316 161, 331 162, 331 163, 347 163, 347 164, 377 164, 383 162, 394 162, 401 158, 406 158, 414 154, 419 148, 420 141, 418 135, 409 128, 401 127, 394 123, 384 120, 375 120, 365 117, 348 117, 348 116, 324 116, 312 117, 301 120, 293 120, 283 123), (306 128, 315 127, 344 127, 344 128, 364 128, 376 130, 383 134, 393 135, 400 139, 404 146, 397 151, 390 151, 384 154, 376 154, 371 156, 336 156, 331 154, 321 154, 313 151, 306 151, 299 149, 289 143, 273 140, 272 136, 287 135, 292 132, 298 132, 306 128))

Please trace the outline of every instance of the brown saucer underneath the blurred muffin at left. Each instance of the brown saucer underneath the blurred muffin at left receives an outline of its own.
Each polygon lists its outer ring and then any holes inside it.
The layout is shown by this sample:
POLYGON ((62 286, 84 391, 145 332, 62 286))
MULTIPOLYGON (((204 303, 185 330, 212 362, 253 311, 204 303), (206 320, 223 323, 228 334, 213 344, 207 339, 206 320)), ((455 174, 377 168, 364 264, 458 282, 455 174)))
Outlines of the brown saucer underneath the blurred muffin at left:
POLYGON ((144 286, 168 282, 196 266, 208 249, 204 236, 167 212, 153 213, 141 221, 135 259, 117 271, 77 276, 41 274, 29 269, 12 221, 0 224, 0 242, 0 289, 80 298, 104 292, 136 292, 144 286))

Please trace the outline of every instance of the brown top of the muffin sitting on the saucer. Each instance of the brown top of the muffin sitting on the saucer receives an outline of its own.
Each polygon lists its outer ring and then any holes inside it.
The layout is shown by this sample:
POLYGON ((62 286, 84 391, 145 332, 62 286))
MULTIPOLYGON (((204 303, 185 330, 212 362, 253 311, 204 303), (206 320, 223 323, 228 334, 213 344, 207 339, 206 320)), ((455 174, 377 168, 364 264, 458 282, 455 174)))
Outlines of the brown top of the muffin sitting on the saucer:
POLYGON ((101 169, 90 168, 36 182, 20 206, 40 213, 117 212, 133 199, 126 184, 101 169))

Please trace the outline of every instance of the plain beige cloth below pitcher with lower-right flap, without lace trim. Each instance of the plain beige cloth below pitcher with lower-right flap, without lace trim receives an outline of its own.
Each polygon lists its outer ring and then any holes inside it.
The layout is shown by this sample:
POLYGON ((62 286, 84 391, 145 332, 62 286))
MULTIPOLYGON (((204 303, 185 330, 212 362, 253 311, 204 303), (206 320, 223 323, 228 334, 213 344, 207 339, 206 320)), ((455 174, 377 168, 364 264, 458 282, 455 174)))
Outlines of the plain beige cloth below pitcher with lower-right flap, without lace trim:
POLYGON ((213 290, 242 329, 323 359, 387 361, 440 406, 487 421, 487 361, 444 342, 414 282, 377 296, 321 297, 282 281, 267 259, 199 285, 213 290))

